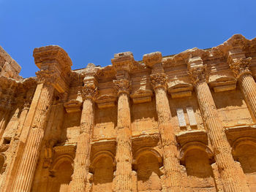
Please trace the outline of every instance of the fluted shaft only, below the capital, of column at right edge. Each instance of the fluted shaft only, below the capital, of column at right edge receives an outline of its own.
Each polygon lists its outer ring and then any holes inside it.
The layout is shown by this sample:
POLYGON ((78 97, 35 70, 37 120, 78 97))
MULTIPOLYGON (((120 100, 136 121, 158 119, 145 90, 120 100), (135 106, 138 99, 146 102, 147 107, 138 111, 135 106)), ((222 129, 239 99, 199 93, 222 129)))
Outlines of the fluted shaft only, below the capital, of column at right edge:
POLYGON ((244 94, 249 111, 251 112, 252 119, 256 122, 256 82, 252 74, 242 74, 238 78, 241 91, 244 94))

